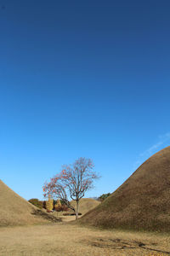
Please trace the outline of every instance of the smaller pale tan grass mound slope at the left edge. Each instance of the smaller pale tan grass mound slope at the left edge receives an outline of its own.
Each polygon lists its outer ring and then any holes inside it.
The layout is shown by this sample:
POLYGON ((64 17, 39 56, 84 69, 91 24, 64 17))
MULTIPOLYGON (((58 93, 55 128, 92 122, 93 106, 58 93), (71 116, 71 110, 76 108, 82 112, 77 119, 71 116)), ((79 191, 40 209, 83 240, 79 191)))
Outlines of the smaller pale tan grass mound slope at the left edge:
POLYGON ((42 224, 59 219, 42 212, 0 180, 0 226, 42 224))

